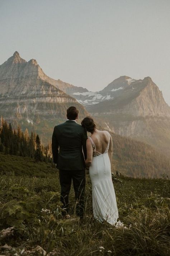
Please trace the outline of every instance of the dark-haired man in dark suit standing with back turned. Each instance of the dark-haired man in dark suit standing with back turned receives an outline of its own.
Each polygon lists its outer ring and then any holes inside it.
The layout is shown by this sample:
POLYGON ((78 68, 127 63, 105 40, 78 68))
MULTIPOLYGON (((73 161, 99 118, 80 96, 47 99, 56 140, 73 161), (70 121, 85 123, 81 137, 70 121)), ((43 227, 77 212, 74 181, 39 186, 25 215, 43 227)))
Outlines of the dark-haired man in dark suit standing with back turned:
POLYGON ((66 210, 62 215, 66 219, 70 218, 68 206, 71 181, 75 191, 76 214, 80 217, 84 214, 87 134, 85 129, 76 122, 78 114, 76 107, 68 108, 67 121, 55 126, 52 135, 53 162, 59 169, 61 202, 66 210))

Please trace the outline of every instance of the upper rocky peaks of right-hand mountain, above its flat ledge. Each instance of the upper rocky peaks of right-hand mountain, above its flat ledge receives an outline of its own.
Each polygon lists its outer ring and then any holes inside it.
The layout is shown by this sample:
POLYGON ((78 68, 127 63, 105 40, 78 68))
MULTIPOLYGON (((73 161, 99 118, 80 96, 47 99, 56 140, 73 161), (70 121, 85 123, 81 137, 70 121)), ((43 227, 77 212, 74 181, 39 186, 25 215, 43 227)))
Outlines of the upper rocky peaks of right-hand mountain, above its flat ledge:
MULTIPOLYGON (((118 83, 120 85, 120 82, 118 83)), ((161 91, 150 77, 143 80, 132 80, 120 77, 103 89, 108 94, 110 91, 116 91, 113 98, 100 102, 90 109, 96 113, 96 110, 102 113, 125 113, 135 116, 164 116, 170 117, 170 107, 165 102, 161 91), (124 86, 122 84, 118 89, 117 82, 124 78, 124 86), (131 82, 126 83, 125 81, 131 82), (112 85, 112 86, 110 86, 112 85), (119 90, 117 92, 116 90, 119 90)))

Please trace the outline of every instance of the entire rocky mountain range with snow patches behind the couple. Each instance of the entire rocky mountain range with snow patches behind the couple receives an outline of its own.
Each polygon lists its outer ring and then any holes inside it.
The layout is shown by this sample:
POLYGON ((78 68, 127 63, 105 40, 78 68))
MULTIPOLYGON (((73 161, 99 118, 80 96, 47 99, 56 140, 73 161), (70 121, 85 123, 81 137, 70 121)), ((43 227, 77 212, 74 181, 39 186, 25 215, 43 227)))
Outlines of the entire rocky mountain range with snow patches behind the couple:
POLYGON ((36 60, 27 62, 17 51, 0 66, 0 114, 14 127, 36 130, 44 142, 70 105, 79 108, 80 120, 90 113, 104 129, 170 155, 170 107, 150 77, 121 76, 91 92, 48 77, 36 60))

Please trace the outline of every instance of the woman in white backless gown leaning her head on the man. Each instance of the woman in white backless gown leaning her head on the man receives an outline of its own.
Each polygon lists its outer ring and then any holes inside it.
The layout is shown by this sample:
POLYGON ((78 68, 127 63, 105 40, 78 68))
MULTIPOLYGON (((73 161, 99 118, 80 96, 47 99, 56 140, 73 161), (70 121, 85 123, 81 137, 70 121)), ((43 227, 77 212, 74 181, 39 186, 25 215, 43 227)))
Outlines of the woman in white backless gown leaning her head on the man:
POLYGON ((91 117, 85 117, 81 125, 91 136, 86 140, 89 175, 93 193, 93 214, 96 220, 120 227, 118 208, 112 182, 112 137, 108 131, 99 131, 91 117))

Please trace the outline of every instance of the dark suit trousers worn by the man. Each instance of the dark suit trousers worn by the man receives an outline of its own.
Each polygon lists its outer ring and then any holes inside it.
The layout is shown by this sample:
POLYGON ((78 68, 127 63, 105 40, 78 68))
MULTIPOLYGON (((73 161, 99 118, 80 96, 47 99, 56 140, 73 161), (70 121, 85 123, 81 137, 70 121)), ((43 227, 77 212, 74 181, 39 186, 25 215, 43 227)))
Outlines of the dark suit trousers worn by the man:
POLYGON ((60 185, 61 185, 61 202, 63 208, 66 210, 62 215, 68 214, 69 207, 69 192, 71 188, 71 181, 75 191, 76 199, 76 214, 80 217, 84 214, 84 192, 85 192, 85 170, 59 170, 60 185))

